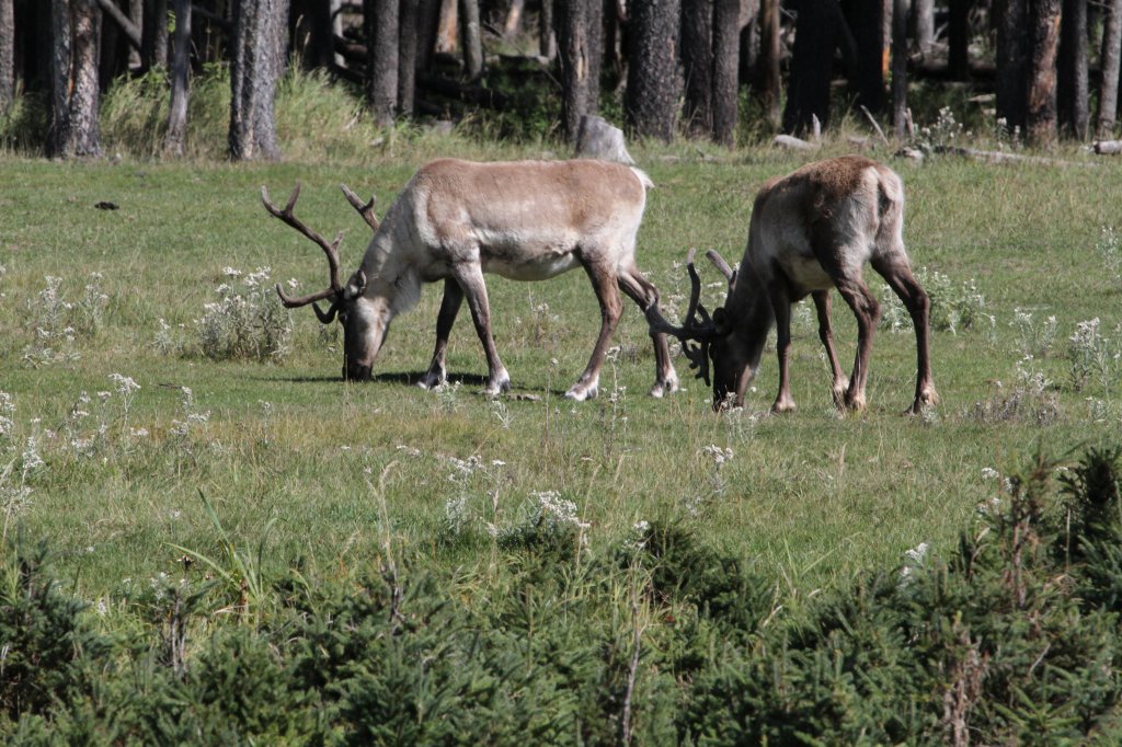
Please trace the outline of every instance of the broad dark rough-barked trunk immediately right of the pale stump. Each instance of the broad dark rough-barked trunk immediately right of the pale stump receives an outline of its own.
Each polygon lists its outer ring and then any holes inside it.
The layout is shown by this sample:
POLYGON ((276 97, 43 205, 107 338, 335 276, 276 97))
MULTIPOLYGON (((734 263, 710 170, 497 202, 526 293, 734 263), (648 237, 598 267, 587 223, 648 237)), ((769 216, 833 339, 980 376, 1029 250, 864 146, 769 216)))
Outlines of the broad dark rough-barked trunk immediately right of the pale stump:
POLYGON ((678 68, 679 0, 635 2, 628 33, 627 94, 624 110, 640 137, 674 138, 682 76, 678 68))

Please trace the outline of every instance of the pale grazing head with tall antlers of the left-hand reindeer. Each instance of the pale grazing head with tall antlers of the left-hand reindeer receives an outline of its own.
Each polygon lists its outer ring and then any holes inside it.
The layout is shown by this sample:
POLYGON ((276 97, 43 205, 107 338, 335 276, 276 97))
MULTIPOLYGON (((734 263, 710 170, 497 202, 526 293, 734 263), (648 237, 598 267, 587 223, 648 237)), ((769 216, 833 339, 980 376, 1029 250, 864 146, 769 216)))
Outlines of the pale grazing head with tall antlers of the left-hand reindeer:
MULTIPOLYGON (((371 229, 377 231, 378 219, 374 213, 375 199, 370 197, 370 201, 364 204, 346 185, 341 186, 343 194, 347 195, 347 200, 355 210, 362 215, 371 229)), ((374 359, 377 357, 389 329, 389 314, 384 303, 366 297, 367 277, 361 269, 356 270, 346 285, 342 284, 339 274, 339 245, 342 243, 342 231, 335 236, 334 241, 328 242, 322 236, 307 228, 293 214, 298 197, 300 184, 292 191, 292 196, 288 197, 284 210, 280 210, 269 201, 268 192, 261 187, 261 202, 265 203, 265 210, 323 249, 323 253, 328 257, 330 285, 323 290, 293 298, 286 295, 280 285, 277 284, 277 295, 280 296, 280 302, 287 308, 311 304, 315 315, 323 324, 330 324, 338 316, 339 323, 343 328, 343 379, 359 381, 369 379, 374 359), (327 311, 320 308, 316 303, 319 301, 330 301, 327 311)))

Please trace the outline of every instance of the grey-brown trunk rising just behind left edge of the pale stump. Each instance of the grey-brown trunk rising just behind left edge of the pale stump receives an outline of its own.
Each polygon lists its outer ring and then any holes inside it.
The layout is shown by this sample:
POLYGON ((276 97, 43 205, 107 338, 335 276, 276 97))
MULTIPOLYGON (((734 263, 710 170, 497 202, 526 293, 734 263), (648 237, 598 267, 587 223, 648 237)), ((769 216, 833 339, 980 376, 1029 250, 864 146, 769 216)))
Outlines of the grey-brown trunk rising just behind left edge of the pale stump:
POLYGON ((561 121, 569 140, 577 137, 580 118, 599 109, 603 8, 599 0, 570 0, 558 7, 561 121))

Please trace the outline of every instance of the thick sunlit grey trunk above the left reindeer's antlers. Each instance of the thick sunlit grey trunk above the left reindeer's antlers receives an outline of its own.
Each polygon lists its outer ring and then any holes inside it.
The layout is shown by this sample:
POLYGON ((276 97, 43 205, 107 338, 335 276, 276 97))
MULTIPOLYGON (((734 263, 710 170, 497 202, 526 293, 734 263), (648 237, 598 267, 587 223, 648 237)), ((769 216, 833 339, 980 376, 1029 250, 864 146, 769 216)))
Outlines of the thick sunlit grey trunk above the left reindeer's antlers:
POLYGON ((274 100, 284 73, 288 0, 233 4, 230 58, 230 158, 280 158, 274 100))

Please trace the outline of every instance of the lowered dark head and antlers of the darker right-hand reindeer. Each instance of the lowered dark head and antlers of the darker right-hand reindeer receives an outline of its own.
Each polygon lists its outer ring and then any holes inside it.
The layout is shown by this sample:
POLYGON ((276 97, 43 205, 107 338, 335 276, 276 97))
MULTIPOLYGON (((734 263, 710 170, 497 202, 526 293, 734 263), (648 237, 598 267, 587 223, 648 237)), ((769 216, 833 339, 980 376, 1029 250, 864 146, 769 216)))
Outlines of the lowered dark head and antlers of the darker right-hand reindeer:
MULTIPOLYGON (((690 368, 696 369, 697 378, 705 379, 707 385, 710 384, 709 361, 712 360, 712 408, 716 411, 743 403, 751 356, 747 345, 734 333, 733 320, 725 308, 716 308, 710 316, 701 305, 701 278, 693 267, 693 253, 695 250, 690 249, 686 258, 691 290, 683 324, 675 326, 669 323, 656 304, 646 310, 646 320, 652 332, 672 334, 681 340, 682 353, 690 361, 690 368)), ((736 273, 716 250, 710 249, 706 257, 721 271, 732 290, 736 273)))

